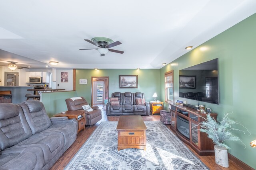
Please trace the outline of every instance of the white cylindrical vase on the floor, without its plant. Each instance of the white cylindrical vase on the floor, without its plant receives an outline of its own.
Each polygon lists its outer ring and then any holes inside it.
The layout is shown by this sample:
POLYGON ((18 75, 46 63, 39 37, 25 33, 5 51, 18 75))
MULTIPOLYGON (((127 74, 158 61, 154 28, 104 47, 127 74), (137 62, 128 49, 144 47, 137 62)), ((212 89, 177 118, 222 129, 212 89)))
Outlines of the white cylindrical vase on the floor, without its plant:
POLYGON ((228 150, 225 147, 214 146, 216 164, 228 168, 228 150))

